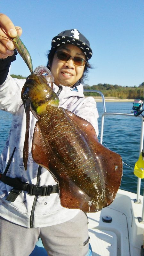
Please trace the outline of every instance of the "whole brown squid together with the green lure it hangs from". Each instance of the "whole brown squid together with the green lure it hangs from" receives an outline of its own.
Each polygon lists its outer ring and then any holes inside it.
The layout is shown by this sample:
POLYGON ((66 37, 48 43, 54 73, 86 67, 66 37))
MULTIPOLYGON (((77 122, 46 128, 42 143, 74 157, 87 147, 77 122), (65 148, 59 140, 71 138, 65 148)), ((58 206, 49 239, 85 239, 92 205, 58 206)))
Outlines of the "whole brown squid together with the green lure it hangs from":
POLYGON ((57 181, 61 205, 84 212, 100 211, 113 202, 120 187, 122 158, 100 144, 92 124, 59 107, 59 98, 52 90, 51 72, 43 66, 33 71, 30 54, 25 46, 20 50, 23 43, 19 40, 19 37, 14 39, 15 47, 31 72, 21 92, 27 120, 23 150, 25 170, 31 111, 37 119, 32 157, 57 181))

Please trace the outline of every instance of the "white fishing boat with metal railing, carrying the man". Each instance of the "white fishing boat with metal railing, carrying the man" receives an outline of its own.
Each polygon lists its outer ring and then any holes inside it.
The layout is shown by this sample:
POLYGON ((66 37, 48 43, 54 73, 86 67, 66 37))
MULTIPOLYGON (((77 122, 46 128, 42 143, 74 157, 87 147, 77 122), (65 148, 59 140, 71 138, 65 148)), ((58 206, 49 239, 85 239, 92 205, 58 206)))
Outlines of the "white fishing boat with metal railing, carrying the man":
MULTIPOLYGON (((87 92, 87 90, 84 90, 84 92, 87 92)), ((106 112, 104 95, 96 90, 88 90, 88 92, 99 93, 103 100, 104 111, 101 119, 100 134, 100 143, 102 143, 104 117, 106 115, 134 116, 134 114, 108 113, 106 112)), ((137 107, 136 104, 134 106, 137 107)), ((141 108, 140 111, 142 111, 141 108)), ((138 113, 136 115, 138 116, 138 113)), ((144 139, 144 117, 142 115, 139 117, 141 118, 141 153, 144 139)), ((144 160, 142 161, 144 162, 144 160)), ((139 171, 144 170, 140 166, 138 169, 139 171)), ((87 213, 90 236, 90 250, 87 256, 144 255, 144 200, 143 196, 140 195, 141 178, 143 178, 143 174, 138 176, 137 194, 119 189, 112 204, 99 212, 87 213)), ((30 256, 39 255, 47 255, 40 239, 30 256)))

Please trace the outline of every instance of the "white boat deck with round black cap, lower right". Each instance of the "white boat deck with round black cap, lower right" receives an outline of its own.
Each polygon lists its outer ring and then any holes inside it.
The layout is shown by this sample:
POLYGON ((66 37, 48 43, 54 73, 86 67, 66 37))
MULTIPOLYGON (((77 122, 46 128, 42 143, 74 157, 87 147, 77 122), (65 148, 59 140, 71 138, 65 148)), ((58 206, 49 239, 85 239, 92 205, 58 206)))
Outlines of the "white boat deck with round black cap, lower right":
POLYGON ((88 213, 93 256, 140 255, 144 224, 138 221, 142 204, 134 203, 135 198, 135 194, 119 189, 110 206, 97 213, 88 213), (112 218, 112 221, 103 222, 103 218, 112 218))

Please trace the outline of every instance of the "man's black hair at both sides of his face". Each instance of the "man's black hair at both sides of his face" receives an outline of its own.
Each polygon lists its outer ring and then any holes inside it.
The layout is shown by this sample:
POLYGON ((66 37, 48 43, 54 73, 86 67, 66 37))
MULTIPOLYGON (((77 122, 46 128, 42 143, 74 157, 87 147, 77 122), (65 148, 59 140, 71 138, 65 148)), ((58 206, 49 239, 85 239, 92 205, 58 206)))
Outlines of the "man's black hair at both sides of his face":
MULTIPOLYGON (((47 54, 47 57, 48 57, 48 62, 47 62, 47 68, 51 71, 51 65, 52 65, 52 61, 53 61, 53 58, 54 58, 54 54, 56 52, 56 48, 52 48, 49 53, 47 54)), ((85 66, 84 66, 84 73, 83 73, 83 76, 79 79, 79 83, 80 84, 84 84, 84 80, 87 78, 87 73, 89 71, 89 68, 92 68, 91 64, 86 61, 85 63, 85 66)))

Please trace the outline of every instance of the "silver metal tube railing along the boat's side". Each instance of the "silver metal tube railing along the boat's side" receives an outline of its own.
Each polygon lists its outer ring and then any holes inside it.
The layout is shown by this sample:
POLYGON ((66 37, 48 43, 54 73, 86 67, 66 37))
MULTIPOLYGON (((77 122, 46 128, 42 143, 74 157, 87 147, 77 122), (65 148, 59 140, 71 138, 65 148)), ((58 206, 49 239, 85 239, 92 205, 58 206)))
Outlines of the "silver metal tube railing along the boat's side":
MULTIPOLYGON (((102 97, 102 103, 103 103, 103 114, 101 117, 101 132, 100 132, 100 143, 102 144, 103 141, 103 130, 104 130, 104 117, 105 116, 111 116, 111 115, 116 115, 116 116, 132 116, 135 117, 134 114, 129 114, 129 113, 112 113, 112 112, 107 112, 106 111, 106 104, 105 104, 105 97, 102 92, 97 91, 97 90, 84 90, 84 92, 97 92, 101 95, 102 97)), ((140 132, 140 153, 143 150, 143 140, 144 140, 144 117, 142 115, 137 116, 138 118, 141 118, 141 132, 140 132)), ((137 198, 135 199, 135 203, 140 204, 140 187, 141 187, 141 179, 138 178, 137 181, 137 198)), ((144 223, 144 200, 143 200, 143 208, 142 208, 142 217, 139 217, 139 221, 141 223, 144 223)))

